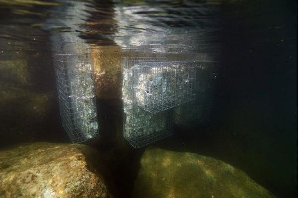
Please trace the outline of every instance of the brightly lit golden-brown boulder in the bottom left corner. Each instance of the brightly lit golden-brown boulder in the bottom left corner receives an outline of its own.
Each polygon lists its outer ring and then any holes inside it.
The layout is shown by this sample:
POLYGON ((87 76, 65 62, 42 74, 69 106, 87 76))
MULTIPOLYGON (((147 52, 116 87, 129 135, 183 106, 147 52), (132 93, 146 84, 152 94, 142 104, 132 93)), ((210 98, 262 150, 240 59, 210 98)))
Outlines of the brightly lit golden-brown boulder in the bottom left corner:
POLYGON ((79 144, 22 144, 0 151, 1 198, 109 198, 98 153, 79 144))

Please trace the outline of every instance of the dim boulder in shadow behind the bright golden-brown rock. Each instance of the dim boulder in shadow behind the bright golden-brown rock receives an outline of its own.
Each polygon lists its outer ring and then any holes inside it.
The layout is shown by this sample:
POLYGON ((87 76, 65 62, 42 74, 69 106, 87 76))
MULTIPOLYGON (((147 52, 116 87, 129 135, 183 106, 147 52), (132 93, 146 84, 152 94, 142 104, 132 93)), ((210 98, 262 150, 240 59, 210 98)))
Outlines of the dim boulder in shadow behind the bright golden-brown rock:
POLYGON ((53 109, 53 95, 30 87, 0 84, 0 146, 32 141, 45 135, 44 121, 53 109))

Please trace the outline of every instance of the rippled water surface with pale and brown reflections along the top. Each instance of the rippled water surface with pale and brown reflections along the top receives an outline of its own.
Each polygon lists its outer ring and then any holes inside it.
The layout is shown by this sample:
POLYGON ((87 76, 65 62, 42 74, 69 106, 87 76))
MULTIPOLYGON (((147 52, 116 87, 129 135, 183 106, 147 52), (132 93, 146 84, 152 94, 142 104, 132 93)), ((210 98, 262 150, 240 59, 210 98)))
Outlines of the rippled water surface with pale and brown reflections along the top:
POLYGON ((219 31, 220 2, 2 0, 1 17, 5 20, 0 27, 1 53, 7 56, 28 51, 36 55, 40 50, 36 48, 57 32, 68 32, 93 44, 118 44, 124 49, 143 46, 154 52, 206 52, 219 47, 215 33, 219 31), (185 47, 178 49, 182 45, 185 47))

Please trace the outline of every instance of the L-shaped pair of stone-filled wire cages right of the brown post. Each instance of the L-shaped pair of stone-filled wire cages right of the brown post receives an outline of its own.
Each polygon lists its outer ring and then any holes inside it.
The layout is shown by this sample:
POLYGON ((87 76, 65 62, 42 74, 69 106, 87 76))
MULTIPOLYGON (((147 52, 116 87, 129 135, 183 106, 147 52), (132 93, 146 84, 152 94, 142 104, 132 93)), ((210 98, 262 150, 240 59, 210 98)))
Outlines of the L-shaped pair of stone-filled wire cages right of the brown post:
POLYGON ((171 135, 172 108, 195 99, 195 62, 122 59, 124 137, 139 148, 171 135))

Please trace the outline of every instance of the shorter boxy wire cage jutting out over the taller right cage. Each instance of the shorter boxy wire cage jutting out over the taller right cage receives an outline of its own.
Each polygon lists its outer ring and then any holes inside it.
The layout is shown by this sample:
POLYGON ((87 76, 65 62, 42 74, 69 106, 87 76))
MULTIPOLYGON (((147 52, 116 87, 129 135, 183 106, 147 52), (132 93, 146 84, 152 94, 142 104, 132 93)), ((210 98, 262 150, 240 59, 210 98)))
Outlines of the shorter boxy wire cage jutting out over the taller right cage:
POLYGON ((132 78, 127 94, 150 113, 192 101, 195 99, 195 64, 162 58, 123 58, 124 76, 130 74, 132 78))

